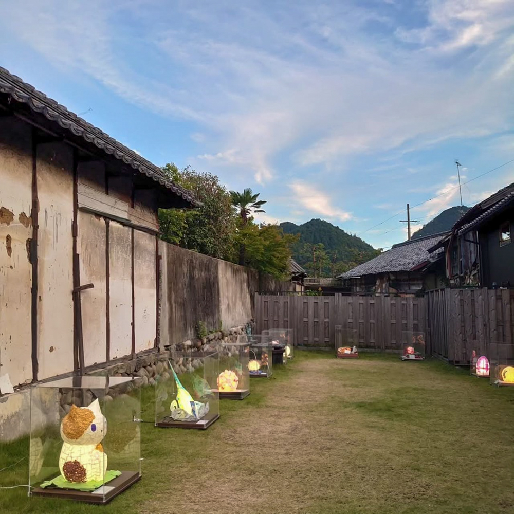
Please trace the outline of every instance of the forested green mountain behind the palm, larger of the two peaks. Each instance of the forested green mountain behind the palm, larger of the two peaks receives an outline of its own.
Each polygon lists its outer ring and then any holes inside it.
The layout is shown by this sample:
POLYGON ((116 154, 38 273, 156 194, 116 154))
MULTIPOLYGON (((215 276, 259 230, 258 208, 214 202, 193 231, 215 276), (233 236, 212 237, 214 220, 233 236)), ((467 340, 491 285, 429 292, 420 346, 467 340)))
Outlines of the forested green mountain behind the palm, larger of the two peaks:
MULTIPOLYGON (((283 222, 280 227, 286 234, 300 235, 298 243, 292 248, 293 259, 310 273, 314 273, 312 245, 324 245, 327 262, 323 265, 322 274, 326 276, 345 271, 377 255, 377 251, 360 237, 348 234, 323 219, 311 219, 302 225, 283 222)), ((320 256, 317 262, 320 262, 320 256)))

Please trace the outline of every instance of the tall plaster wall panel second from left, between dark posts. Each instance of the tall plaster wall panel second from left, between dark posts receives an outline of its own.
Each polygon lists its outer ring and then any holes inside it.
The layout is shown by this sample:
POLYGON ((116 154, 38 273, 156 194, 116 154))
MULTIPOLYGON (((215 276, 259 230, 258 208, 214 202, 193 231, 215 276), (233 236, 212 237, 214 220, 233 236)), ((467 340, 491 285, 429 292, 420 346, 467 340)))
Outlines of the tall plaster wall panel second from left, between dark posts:
POLYGON ((72 149, 38 145, 38 363, 39 378, 72 371, 73 220, 72 149))

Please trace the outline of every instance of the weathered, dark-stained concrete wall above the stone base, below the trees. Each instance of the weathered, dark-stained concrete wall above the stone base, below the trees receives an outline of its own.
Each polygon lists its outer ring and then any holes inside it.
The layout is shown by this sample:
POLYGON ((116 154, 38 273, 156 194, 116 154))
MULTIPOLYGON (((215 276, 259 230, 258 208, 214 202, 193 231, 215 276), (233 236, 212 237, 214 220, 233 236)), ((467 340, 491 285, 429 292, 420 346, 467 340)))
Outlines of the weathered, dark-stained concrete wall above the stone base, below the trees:
POLYGON ((194 338, 196 325, 247 323, 255 313, 255 293, 295 291, 258 271, 159 241, 161 259, 160 344, 194 338))

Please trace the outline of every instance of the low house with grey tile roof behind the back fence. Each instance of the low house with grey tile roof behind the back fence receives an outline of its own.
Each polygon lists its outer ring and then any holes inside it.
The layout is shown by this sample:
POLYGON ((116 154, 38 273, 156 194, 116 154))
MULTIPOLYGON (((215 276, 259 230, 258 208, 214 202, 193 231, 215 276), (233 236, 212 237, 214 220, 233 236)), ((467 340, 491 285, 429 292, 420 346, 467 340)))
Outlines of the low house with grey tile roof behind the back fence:
POLYGON ((356 294, 419 295, 444 285, 442 248, 434 248, 447 233, 394 245, 374 259, 342 273, 356 294))

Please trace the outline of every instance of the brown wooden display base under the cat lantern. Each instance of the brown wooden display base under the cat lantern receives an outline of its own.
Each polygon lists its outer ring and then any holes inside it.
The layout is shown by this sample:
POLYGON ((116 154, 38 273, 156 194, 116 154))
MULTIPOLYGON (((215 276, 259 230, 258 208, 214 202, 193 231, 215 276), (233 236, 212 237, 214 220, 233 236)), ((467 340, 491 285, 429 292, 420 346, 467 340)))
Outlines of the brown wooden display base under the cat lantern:
POLYGON ((135 484, 141 476, 137 471, 122 471, 111 482, 107 482, 105 486, 99 487, 96 491, 76 491, 74 489, 61 489, 60 487, 36 487, 32 489, 32 496, 41 496, 43 498, 64 498, 65 500, 75 500, 76 502, 100 503, 105 505, 115 498, 120 492, 135 484), (100 493, 105 487, 105 494, 100 493))

